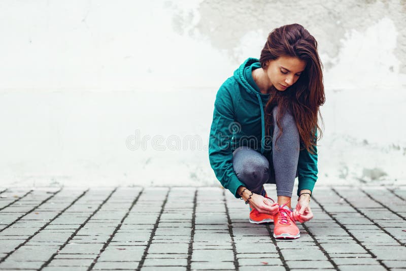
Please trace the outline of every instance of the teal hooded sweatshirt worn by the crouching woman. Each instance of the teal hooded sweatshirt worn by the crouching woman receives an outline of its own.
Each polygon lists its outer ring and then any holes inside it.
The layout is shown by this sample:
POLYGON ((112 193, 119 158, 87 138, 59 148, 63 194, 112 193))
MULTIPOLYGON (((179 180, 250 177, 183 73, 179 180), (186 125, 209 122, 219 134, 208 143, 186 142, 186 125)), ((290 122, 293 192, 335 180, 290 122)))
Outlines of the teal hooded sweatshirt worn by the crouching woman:
MULTIPOLYGON (((265 140, 264 107, 269 94, 262 94, 252 78, 252 71, 260 68, 259 60, 248 58, 220 87, 214 103, 210 128, 209 160, 221 185, 236 193, 244 186, 232 167, 232 152, 240 146, 249 146, 268 160, 272 157, 272 142, 265 140)), ((299 185, 313 191, 317 180, 317 148, 311 154, 300 144, 298 161, 299 185)))

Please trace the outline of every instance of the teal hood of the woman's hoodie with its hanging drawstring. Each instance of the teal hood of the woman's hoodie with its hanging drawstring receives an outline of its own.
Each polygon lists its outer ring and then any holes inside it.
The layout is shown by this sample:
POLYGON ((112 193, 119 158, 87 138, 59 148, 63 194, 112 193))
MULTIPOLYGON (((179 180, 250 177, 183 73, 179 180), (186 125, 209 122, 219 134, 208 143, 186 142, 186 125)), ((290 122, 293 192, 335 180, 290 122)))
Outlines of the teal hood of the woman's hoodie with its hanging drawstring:
POLYGON ((265 117, 263 110, 263 103, 269 99, 269 94, 263 94, 259 91, 254 79, 252 78, 252 71, 261 67, 257 58, 248 58, 240 67, 234 71, 234 79, 244 87, 244 89, 258 100, 258 106, 261 111, 261 154, 264 153, 265 141, 265 117))

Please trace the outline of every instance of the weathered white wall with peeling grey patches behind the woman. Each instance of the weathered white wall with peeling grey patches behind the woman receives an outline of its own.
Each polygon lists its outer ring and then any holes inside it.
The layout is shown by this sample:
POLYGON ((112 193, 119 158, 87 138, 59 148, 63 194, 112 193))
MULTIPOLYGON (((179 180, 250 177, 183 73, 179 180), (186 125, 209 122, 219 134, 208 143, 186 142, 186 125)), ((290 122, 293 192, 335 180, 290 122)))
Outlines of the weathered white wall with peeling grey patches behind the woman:
POLYGON ((0 184, 217 185, 216 91, 293 22, 325 65, 319 181, 406 180, 406 4, 247 3, 0 2, 0 184))

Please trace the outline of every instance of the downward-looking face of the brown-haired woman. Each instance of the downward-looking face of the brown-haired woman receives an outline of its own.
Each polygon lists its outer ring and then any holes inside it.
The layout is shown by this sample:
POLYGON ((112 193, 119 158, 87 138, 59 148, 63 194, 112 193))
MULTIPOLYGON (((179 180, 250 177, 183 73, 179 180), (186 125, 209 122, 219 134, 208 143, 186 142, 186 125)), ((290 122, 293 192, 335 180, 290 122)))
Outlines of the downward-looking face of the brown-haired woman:
POLYGON ((296 83, 305 67, 306 62, 297 57, 281 56, 275 60, 269 60, 264 70, 270 83, 279 91, 285 91, 296 83))

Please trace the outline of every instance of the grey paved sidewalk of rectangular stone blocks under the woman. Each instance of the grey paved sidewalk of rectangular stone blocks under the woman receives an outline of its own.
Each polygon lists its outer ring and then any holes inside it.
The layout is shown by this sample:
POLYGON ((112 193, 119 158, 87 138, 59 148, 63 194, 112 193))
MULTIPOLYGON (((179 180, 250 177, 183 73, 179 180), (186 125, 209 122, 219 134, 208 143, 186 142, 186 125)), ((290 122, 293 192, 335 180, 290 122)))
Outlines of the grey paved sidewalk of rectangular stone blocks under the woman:
POLYGON ((405 187, 317 187, 311 207, 285 241, 216 187, 2 189, 0 270, 406 268, 405 187))

